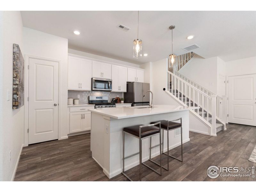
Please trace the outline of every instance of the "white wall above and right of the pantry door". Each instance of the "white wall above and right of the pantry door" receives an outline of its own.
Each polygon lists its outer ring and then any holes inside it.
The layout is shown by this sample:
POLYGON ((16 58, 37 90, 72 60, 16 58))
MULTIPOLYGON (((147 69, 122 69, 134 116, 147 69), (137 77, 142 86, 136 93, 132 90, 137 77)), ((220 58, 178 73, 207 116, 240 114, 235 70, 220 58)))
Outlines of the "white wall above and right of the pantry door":
MULTIPOLYGON (((60 60, 60 136, 67 138, 69 133, 67 100, 68 100, 68 39, 23 28, 24 53, 52 60, 60 60)), ((26 62, 26 64, 28 64, 26 62)))

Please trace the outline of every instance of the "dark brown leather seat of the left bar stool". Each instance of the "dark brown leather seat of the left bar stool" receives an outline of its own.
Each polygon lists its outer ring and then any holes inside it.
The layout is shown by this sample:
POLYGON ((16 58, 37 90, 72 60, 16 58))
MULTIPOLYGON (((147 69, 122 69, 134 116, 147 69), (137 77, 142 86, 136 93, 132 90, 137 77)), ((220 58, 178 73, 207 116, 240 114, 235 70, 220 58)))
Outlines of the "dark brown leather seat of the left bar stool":
MULTIPOLYGON (((156 122, 158 123, 158 122, 156 122)), ((134 125, 130 127, 124 127, 124 132, 130 133, 136 137, 140 137, 140 126, 142 125, 134 125)), ((150 126, 150 127, 144 127, 141 129, 141 138, 154 135, 156 133, 160 132, 159 126, 150 126)))

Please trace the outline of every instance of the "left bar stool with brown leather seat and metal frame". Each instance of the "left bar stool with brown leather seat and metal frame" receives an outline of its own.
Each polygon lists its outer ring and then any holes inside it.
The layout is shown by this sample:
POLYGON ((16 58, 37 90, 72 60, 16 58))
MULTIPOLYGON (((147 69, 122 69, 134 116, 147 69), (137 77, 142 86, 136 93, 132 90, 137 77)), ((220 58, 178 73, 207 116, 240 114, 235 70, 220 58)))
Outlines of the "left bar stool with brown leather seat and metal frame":
MULTIPOLYGON (((150 137, 150 141, 151 141, 151 137, 159 134, 159 143, 161 143, 161 131, 160 130, 161 130, 160 122, 156 122, 154 124, 149 124, 149 125, 134 125, 134 126, 130 126, 130 127, 124 127, 124 129, 123 129, 123 172, 122 172, 122 174, 130 181, 132 181, 132 179, 124 173, 124 159, 130 158, 130 157, 138 155, 138 154, 140 154, 140 181, 141 181, 141 164, 145 165, 146 167, 148 167, 152 171, 158 173, 159 175, 162 175, 162 166, 161 166, 162 159, 161 159, 161 145, 160 144, 159 144, 159 146, 160 146, 160 164, 151 160, 153 163, 160 166, 160 172, 157 172, 155 169, 151 168, 150 166, 148 166, 147 164, 142 162, 142 140, 150 137), (132 135, 133 137, 136 137, 140 140, 140 152, 135 153, 130 156, 127 156, 127 157, 124 157, 124 135, 125 134, 132 135)), ((150 158, 151 158, 151 149, 150 149, 150 158)))

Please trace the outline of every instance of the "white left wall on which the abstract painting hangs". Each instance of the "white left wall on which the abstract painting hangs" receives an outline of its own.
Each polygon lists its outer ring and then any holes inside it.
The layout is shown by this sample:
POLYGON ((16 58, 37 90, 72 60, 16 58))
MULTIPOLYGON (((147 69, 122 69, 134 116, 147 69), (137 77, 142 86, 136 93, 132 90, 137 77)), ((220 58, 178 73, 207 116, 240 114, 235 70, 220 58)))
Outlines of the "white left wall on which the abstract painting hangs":
MULTIPOLYGON (((1 147, 3 162, 1 163, 0 180, 12 180, 15 168, 19 160, 20 151, 24 143, 24 106, 12 109, 12 52, 13 43, 20 45, 24 57, 24 46, 22 43, 22 20, 19 11, 2 12, 3 17, 3 66, 1 68, 1 86, 3 92, 0 98, 2 105, 3 130, 1 147), (10 91, 10 100, 7 101, 7 90, 10 91), (11 151, 11 161, 9 153, 11 151)), ((1 51, 2 52, 2 51, 1 51)))

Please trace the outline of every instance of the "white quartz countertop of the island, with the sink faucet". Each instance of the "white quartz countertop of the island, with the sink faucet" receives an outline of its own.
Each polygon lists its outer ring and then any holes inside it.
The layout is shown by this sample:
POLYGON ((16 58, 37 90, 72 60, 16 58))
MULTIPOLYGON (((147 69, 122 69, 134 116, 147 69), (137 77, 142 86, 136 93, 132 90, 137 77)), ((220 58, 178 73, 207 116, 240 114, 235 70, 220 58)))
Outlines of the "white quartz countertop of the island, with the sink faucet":
POLYGON ((104 116, 112 117, 115 119, 124 119, 130 117, 156 115, 162 113, 170 113, 176 111, 185 111, 191 109, 198 109, 199 107, 185 107, 179 105, 155 105, 154 108, 141 108, 143 106, 136 107, 122 107, 122 108, 98 108, 88 109, 93 113, 98 113, 104 116))

